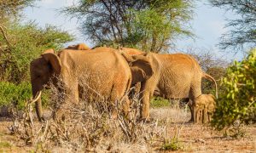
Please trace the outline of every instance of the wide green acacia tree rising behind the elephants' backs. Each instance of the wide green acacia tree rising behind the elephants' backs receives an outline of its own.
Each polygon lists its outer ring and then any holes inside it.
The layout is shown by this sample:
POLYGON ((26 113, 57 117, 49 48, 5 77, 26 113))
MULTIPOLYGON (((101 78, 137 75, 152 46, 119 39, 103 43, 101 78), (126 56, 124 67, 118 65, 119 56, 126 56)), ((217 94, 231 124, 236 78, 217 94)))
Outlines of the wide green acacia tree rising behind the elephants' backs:
POLYGON ((84 35, 96 45, 120 45, 160 52, 179 36, 192 36, 186 0, 80 0, 63 9, 78 18, 84 35))

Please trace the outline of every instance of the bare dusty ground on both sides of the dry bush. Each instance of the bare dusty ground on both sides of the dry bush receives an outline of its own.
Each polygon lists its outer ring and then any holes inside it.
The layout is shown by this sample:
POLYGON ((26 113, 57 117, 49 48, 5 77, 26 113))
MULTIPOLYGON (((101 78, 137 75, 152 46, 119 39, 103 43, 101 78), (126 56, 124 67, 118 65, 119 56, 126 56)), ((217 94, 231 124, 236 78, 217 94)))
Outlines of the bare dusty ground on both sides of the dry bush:
MULTIPOLYGON (((166 125, 166 134, 170 139, 177 136, 183 149, 189 152, 256 152, 256 125, 247 127, 247 134, 241 139, 224 138, 222 133, 213 131, 207 125, 188 123, 189 113, 184 110, 170 108, 151 109, 151 116, 159 125, 166 125)), ((0 118, 0 152, 31 152, 38 146, 27 146, 24 141, 9 134, 8 127, 12 124, 7 118, 0 118)), ((120 145, 125 146, 125 144, 120 145)), ((126 146, 140 148, 139 145, 126 146)), ((141 146, 141 149, 145 146, 141 146)), ((159 152, 159 147, 144 148, 141 152, 159 152)), ((64 151, 64 150, 62 150, 64 151)), ((62 152, 61 151, 61 152, 62 152)), ((55 152, 55 151, 53 151, 55 152)), ((60 152, 57 151, 57 152, 60 152)), ((65 151, 66 152, 66 151, 65 151)))

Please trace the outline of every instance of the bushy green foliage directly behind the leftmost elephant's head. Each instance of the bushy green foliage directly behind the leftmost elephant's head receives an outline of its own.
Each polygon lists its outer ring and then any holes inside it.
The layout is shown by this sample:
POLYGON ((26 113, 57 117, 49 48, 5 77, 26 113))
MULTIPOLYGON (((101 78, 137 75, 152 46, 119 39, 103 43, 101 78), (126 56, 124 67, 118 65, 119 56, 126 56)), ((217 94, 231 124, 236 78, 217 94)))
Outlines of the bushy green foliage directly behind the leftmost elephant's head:
POLYGON ((29 81, 29 64, 47 48, 55 50, 73 40, 70 35, 54 26, 40 28, 34 23, 7 26, 9 40, 0 35, 0 80, 8 82, 29 81))

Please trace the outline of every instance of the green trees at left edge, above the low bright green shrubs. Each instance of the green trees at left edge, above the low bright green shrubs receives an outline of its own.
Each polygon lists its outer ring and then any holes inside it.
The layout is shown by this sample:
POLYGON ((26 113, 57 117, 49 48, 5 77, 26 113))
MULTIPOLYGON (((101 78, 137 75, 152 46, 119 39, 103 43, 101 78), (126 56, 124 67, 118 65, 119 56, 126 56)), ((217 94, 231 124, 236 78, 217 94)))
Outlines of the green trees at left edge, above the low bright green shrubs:
POLYGON ((59 49, 73 40, 54 26, 20 24, 20 11, 35 0, 0 0, 0 81, 28 82, 29 63, 47 48, 59 49))

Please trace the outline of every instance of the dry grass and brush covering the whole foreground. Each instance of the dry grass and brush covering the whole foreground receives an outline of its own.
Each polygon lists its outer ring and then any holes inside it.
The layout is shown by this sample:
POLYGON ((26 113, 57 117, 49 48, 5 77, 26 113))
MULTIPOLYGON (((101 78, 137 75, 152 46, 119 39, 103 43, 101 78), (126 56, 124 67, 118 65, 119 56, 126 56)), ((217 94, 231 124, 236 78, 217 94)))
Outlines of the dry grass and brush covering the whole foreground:
MULTIPOLYGON (((224 138, 223 133, 207 125, 189 123, 188 108, 172 106, 151 108, 151 122, 138 122, 138 96, 132 101, 130 117, 124 116, 122 100, 108 103, 81 101, 79 104, 62 101, 53 88, 48 120, 37 122, 28 101, 22 116, 0 121, 0 152, 154 152, 178 151, 238 151, 256 150, 256 126, 247 127, 241 139, 224 138), (112 109, 109 109, 111 105, 112 109), (113 111, 116 115, 113 116, 113 111), (55 119, 53 115, 55 115, 55 119), (33 116, 33 117, 32 117, 33 116)), ((45 114, 45 111, 44 111, 45 114)))

